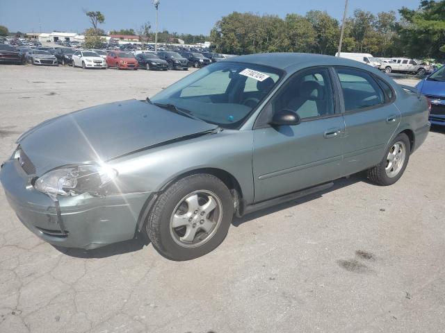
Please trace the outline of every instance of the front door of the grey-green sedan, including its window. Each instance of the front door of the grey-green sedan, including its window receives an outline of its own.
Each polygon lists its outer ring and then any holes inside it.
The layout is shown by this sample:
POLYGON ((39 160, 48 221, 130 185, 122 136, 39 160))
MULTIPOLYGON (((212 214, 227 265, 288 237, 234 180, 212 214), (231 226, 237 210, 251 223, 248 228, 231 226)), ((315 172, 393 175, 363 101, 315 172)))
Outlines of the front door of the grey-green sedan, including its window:
POLYGON ((341 173, 344 123, 334 103, 329 70, 296 74, 263 112, 271 118, 284 109, 296 112, 301 123, 279 127, 260 124, 261 128, 254 130, 255 202, 334 180, 341 173))

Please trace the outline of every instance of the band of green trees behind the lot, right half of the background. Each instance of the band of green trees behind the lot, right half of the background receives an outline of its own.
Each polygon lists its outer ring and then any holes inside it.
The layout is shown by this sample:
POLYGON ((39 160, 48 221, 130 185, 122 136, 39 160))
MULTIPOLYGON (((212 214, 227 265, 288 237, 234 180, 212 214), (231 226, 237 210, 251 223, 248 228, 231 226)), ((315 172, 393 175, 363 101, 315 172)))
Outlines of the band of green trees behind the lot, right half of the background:
MULTIPOLYGON (((345 22, 343 52, 374 56, 444 58, 445 0, 421 1, 418 10, 373 13, 357 9, 345 22)), ((232 12, 211 30, 210 40, 220 53, 309 52, 334 55, 340 38, 340 23, 325 11, 311 10, 305 16, 232 12)))

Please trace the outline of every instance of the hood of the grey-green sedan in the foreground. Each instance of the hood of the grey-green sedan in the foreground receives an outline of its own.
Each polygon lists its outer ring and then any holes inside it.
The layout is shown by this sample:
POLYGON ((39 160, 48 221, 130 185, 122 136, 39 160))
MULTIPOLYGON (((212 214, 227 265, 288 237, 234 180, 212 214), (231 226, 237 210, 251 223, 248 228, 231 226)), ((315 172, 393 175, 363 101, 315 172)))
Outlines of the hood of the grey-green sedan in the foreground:
POLYGON ((41 175, 67 164, 104 162, 218 126, 147 103, 122 101, 49 119, 17 143, 41 175))

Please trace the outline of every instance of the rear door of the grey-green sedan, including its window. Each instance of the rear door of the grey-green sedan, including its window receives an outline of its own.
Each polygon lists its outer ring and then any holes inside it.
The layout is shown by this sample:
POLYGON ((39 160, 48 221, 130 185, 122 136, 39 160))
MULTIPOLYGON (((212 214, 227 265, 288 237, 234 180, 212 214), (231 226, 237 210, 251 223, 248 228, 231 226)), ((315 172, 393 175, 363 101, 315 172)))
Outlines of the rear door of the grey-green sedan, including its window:
POLYGON ((398 127, 401 113, 388 83, 369 71, 338 67, 337 84, 343 97, 345 135, 342 176, 368 169, 382 160, 398 127))

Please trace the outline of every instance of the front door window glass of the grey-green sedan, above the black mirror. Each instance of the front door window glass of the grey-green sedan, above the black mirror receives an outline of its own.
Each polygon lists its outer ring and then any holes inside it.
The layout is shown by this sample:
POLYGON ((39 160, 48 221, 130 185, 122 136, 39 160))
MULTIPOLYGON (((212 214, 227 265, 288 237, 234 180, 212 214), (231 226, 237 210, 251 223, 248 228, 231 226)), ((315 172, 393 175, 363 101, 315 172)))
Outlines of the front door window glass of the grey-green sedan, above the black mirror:
POLYGON ((312 69, 297 74, 273 101, 273 112, 291 110, 300 119, 323 117, 335 113, 329 71, 312 69))

